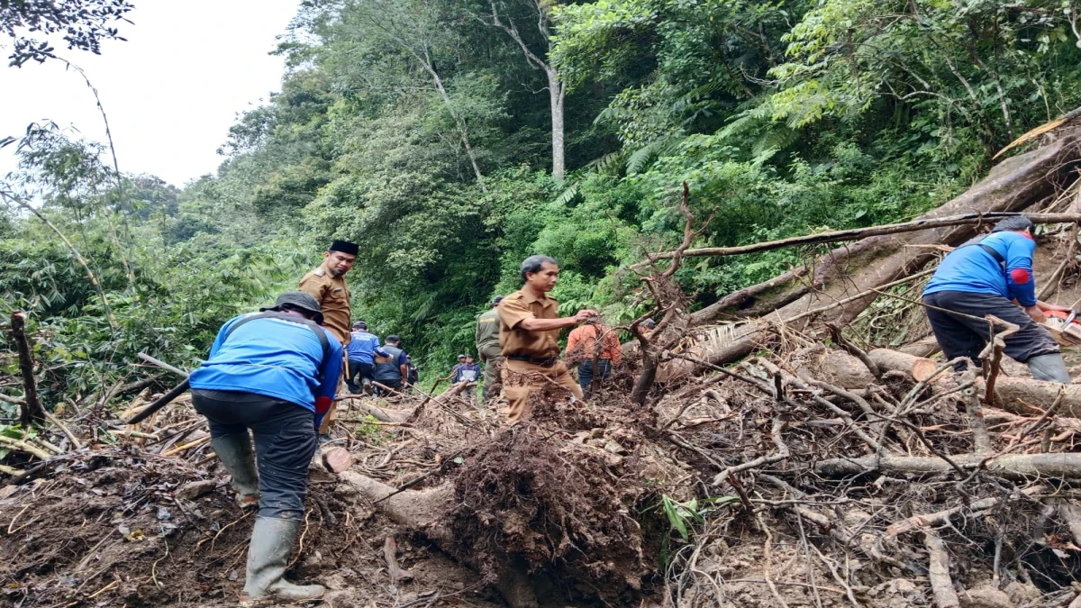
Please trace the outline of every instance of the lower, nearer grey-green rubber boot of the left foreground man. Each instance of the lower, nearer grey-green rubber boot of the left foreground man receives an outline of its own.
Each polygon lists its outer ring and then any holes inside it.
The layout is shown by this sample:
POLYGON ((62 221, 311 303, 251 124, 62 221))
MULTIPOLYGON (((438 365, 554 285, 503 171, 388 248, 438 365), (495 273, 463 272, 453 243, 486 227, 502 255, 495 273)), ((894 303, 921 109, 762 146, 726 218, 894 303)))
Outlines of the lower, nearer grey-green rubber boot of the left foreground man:
POLYGON ((240 596, 241 606, 255 606, 267 599, 315 600, 326 593, 326 587, 322 585, 294 585, 283 578, 299 531, 299 519, 255 518, 252 544, 248 547, 248 580, 240 596))

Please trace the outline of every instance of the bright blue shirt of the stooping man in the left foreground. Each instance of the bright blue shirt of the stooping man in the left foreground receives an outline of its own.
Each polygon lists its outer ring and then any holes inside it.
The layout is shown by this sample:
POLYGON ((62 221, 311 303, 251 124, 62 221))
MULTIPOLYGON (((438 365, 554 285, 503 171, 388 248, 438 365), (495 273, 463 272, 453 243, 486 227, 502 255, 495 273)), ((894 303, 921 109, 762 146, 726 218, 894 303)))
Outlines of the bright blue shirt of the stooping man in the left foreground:
POLYGON ((330 343, 326 360, 310 328, 281 319, 248 321, 226 340, 229 328, 245 316, 222 326, 210 358, 188 378, 192 388, 266 395, 311 411, 316 410, 316 397, 334 398, 342 372, 342 344, 333 333, 322 330, 330 343))

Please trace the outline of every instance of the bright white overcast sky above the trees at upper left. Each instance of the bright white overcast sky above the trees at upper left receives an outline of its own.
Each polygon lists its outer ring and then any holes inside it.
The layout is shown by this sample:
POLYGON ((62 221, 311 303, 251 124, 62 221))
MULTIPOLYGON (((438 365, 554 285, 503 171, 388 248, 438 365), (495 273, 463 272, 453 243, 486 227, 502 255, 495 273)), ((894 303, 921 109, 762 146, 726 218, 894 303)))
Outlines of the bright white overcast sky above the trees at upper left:
MULTIPOLYGON (((213 173, 237 113, 280 89, 281 57, 267 53, 296 14, 299 0, 131 0, 126 42, 102 54, 57 54, 78 64, 97 88, 109 117, 120 170, 150 173, 176 186, 213 173)), ((82 78, 61 62, 6 67, 0 40, 0 137, 18 137, 51 119, 74 134, 105 142, 105 127, 82 78)), ((0 175, 15 169, 14 146, 0 149, 0 175)))

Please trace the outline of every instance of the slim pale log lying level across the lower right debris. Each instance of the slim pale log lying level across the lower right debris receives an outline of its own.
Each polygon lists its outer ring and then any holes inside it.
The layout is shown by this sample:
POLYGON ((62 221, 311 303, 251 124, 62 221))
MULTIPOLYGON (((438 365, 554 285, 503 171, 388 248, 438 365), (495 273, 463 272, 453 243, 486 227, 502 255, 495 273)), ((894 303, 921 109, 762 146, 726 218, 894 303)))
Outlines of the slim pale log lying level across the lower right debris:
MULTIPOLYGON (((1003 479, 1081 479, 1081 453, 1015 454, 992 459, 977 454, 953 454, 947 458, 961 468, 975 468, 987 460, 986 471, 1003 479)), ((849 477, 870 472, 926 475, 952 471, 953 467, 948 462, 937 457, 838 458, 819 461, 814 465, 815 473, 827 477, 849 477)))

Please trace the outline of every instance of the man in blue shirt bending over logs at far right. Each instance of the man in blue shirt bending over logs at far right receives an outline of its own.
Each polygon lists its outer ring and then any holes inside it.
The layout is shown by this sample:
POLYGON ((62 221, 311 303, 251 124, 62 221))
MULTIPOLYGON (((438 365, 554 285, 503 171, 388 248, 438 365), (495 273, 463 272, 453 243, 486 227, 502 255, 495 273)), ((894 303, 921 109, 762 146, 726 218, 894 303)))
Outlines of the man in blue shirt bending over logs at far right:
POLYGON ((1039 325, 1044 310, 1069 308, 1036 298, 1033 227, 1025 216, 1006 217, 991 234, 955 249, 923 290, 924 309, 947 359, 969 357, 978 366, 990 340, 985 316, 995 315, 1020 327, 1004 341, 1007 357, 1028 364, 1037 380, 1069 384, 1058 343, 1039 325))

